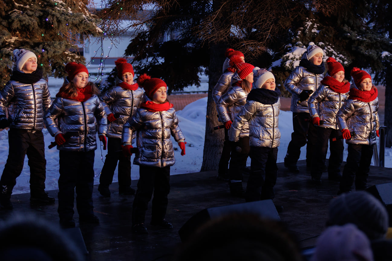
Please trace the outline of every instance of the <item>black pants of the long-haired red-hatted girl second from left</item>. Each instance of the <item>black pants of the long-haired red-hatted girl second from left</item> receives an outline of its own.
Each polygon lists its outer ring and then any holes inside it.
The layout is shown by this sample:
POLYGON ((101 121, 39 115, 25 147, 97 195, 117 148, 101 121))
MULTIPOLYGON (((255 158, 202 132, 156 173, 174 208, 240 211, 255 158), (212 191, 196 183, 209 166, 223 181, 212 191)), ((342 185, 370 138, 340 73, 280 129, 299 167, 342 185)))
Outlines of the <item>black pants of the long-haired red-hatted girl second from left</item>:
POLYGON ((60 220, 71 220, 76 209, 80 216, 93 215, 94 151, 60 150, 58 178, 58 214, 60 220))

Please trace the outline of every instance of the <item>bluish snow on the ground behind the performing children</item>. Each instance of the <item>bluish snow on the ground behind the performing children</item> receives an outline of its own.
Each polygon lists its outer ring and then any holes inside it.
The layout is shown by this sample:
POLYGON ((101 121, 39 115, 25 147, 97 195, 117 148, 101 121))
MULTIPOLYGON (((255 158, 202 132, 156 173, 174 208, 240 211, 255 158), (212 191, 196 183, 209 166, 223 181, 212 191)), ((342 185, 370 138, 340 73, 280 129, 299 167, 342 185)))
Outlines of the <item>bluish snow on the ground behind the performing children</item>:
MULTIPOLYGON (((177 142, 174 142, 174 155, 176 158, 176 164, 171 167, 171 175, 193 173, 200 171, 201 163, 203 161, 203 145, 204 145, 204 134, 205 134, 205 115, 207 111, 207 97, 195 101, 185 106, 181 111, 177 112, 180 120, 180 128, 183 131, 187 145, 185 156, 181 156, 180 148, 177 142)), ((285 157, 287 146, 291 139, 292 132, 292 113, 281 111, 279 115, 279 130, 281 131, 281 142, 278 151, 278 162, 283 162, 285 157)), ((223 131, 223 130, 220 130, 223 131)), ((45 146, 54 141, 49 132, 44 129, 45 146)), ((98 140, 99 141, 99 140, 98 140)), ((94 184, 99 184, 99 174, 103 166, 103 160, 105 159, 107 151, 102 150, 102 146, 95 151, 95 162, 94 171, 95 178, 94 184)), ((5 161, 8 155, 8 134, 7 130, 0 131, 0 173, 4 169, 5 161)), ((46 189, 58 189, 57 180, 58 174, 58 150, 56 148, 46 149, 45 157, 47 160, 46 164, 46 189)), ((329 151, 327 158, 329 157, 329 151)), ((345 145, 344 160, 347 157, 347 145, 345 145)), ((134 156, 131 160, 133 162, 134 156)), ((301 149, 300 160, 305 159, 305 147, 301 149)), ((248 166, 250 159, 248 159, 248 166)), ((385 167, 392 167, 392 149, 386 148, 385 150, 385 167)), ((132 164, 131 170, 132 180, 139 178, 139 166, 132 164)), ((117 171, 115 172, 113 182, 117 182, 117 171)), ((136 184, 132 184, 136 185, 136 184)), ((16 186, 13 193, 27 193, 29 192, 29 166, 27 165, 27 157, 25 158, 24 167, 22 174, 16 180, 16 186)))

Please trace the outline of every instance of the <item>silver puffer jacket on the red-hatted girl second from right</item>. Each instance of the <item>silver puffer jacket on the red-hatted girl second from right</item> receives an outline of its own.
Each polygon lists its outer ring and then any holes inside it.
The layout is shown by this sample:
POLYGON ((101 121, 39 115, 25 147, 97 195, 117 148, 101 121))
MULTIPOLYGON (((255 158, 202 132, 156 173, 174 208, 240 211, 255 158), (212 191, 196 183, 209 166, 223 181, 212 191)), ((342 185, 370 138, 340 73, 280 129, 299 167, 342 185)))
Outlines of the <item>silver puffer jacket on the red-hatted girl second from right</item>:
POLYGON ((321 85, 308 101, 310 117, 319 117, 324 121, 323 128, 339 129, 336 113, 347 100, 348 93, 340 94, 326 85, 321 85))

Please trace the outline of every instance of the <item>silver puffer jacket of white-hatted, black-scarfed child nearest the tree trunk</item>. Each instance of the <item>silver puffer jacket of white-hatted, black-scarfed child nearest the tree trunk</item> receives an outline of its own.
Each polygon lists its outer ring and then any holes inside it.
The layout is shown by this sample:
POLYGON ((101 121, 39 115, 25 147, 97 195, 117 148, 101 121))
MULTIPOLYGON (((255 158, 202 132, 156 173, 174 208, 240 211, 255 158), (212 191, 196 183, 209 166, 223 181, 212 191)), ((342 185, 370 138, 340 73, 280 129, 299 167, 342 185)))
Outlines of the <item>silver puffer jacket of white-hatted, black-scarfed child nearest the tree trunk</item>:
POLYGON ((275 148, 280 145, 280 99, 274 104, 248 101, 230 128, 229 140, 238 141, 242 126, 249 122, 249 144, 253 147, 275 148))

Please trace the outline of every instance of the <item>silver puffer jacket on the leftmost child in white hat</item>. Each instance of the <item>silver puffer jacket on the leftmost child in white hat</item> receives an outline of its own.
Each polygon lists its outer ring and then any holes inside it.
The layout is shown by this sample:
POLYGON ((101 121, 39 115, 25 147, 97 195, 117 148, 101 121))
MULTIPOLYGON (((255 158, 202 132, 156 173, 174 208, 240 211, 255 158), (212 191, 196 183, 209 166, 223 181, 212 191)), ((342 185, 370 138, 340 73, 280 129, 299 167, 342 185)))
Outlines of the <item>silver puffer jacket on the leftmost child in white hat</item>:
POLYGON ((0 92, 0 115, 5 116, 8 107, 10 128, 42 130, 44 113, 50 105, 49 88, 44 79, 33 84, 8 81, 0 92))

